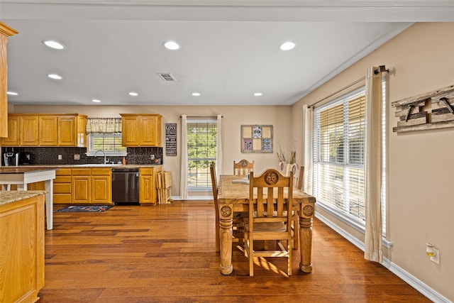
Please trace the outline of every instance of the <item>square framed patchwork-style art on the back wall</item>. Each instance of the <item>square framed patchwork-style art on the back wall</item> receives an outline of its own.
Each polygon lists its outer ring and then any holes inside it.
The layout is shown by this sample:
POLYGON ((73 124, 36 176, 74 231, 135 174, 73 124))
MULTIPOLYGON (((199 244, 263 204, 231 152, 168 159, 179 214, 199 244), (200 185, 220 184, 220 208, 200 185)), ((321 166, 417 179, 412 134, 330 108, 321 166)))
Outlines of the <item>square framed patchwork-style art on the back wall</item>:
POLYGON ((242 125, 241 153, 272 153, 272 125, 242 125))

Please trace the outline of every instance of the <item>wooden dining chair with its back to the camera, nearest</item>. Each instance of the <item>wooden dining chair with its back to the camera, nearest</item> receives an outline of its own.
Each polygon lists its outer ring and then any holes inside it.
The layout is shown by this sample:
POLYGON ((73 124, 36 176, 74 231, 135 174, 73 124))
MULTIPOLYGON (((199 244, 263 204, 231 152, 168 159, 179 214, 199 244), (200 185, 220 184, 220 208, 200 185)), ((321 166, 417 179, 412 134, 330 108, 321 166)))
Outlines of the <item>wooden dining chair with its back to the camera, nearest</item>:
POLYGON ((287 258, 287 275, 292 275, 292 197, 293 172, 289 177, 274 169, 265 170, 258 177, 250 172, 249 216, 244 227, 244 251, 249 259, 250 276, 254 275, 254 258, 258 257, 287 258), (258 240, 277 241, 279 249, 255 250, 254 241, 258 240))

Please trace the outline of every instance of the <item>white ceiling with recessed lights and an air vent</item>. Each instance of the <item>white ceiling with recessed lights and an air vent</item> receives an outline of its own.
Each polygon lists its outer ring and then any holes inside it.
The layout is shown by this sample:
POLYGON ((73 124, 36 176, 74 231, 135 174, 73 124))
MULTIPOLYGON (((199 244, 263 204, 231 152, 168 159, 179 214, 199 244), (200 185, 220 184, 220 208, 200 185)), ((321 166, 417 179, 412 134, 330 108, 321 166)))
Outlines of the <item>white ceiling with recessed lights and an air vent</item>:
POLYGON ((20 32, 11 104, 289 105, 411 23, 454 21, 454 1, 3 0, 0 21, 20 32), (296 48, 279 50, 286 40, 296 48))

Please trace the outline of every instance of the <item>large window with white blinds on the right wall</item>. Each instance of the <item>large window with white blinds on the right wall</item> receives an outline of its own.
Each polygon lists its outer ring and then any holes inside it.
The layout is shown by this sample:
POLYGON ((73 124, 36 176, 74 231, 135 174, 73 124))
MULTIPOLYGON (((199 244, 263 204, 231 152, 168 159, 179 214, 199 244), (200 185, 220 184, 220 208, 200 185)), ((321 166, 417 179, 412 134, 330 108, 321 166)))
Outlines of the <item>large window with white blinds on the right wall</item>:
POLYGON ((365 92, 314 110, 314 194, 318 203, 365 221, 365 92))

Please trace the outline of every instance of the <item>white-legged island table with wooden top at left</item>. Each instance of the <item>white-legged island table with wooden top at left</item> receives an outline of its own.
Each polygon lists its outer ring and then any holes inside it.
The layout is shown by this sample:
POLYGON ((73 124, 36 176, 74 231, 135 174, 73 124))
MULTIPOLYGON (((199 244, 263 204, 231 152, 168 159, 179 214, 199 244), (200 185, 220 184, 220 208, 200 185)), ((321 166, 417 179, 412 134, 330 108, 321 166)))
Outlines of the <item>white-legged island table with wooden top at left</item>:
POLYGON ((55 169, 38 167, 0 167, 0 185, 2 191, 9 191, 11 184, 16 184, 18 191, 27 190, 27 184, 45 183, 45 213, 47 229, 53 227, 53 180, 55 169))

